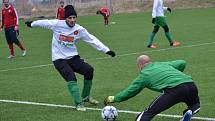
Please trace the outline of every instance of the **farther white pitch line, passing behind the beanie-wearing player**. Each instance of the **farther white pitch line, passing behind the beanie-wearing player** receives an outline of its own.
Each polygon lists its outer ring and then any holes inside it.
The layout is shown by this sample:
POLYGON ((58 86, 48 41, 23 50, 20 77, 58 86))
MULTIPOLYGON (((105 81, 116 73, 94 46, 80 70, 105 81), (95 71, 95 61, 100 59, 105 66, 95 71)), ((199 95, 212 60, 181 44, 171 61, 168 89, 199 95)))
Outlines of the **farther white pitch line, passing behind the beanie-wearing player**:
MULTIPOLYGON (((169 47, 169 48, 157 49, 157 50, 147 50, 147 51, 142 51, 142 52, 119 54, 119 55, 116 56, 116 58, 117 57, 123 57, 123 56, 130 56, 130 55, 138 55, 138 54, 150 53, 150 52, 160 52, 160 51, 166 51, 166 50, 174 50, 174 49, 183 49, 183 48, 198 47, 198 46, 211 45, 211 44, 215 44, 215 42, 202 43, 202 44, 196 44, 196 45, 179 46, 179 47, 169 47)), ((87 60, 89 60, 89 59, 87 59, 87 60)), ((110 57, 101 57, 101 58, 94 58, 94 59, 95 60, 104 60, 104 59, 110 59, 110 57)), ((20 68, 14 68, 14 69, 5 69, 5 70, 0 70, 0 72, 16 71, 16 70, 23 70, 23 69, 30 69, 30 68, 41 68, 41 67, 52 66, 52 65, 53 64, 44 64, 44 65, 20 67, 20 68)))

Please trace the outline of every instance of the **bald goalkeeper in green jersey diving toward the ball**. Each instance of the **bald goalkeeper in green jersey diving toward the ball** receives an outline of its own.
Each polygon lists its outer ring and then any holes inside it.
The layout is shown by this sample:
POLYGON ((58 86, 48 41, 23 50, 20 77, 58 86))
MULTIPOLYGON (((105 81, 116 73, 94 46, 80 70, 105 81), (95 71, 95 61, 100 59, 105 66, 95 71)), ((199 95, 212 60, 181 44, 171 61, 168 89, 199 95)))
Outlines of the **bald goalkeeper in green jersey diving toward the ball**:
POLYGON ((161 95, 137 116, 136 121, 150 121, 155 115, 180 102, 187 105, 181 121, 189 121, 192 115, 200 110, 200 101, 192 77, 183 73, 185 65, 184 60, 151 62, 149 56, 141 55, 137 59, 139 76, 123 91, 115 96, 106 97, 104 103, 108 105, 126 101, 142 89, 148 88, 161 92, 161 95))

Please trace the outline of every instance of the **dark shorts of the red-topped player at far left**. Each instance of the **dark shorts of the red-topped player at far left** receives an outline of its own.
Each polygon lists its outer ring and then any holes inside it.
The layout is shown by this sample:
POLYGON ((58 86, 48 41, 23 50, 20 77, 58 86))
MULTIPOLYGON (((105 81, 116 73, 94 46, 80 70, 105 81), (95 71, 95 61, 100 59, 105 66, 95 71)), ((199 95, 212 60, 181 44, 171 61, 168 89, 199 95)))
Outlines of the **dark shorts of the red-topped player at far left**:
POLYGON ((9 28, 5 28, 4 31, 5 31, 5 37, 6 37, 6 40, 7 40, 7 43, 8 44, 19 44, 19 40, 17 39, 17 36, 19 35, 19 30, 18 31, 15 31, 14 30, 14 26, 13 27, 9 27, 9 28))

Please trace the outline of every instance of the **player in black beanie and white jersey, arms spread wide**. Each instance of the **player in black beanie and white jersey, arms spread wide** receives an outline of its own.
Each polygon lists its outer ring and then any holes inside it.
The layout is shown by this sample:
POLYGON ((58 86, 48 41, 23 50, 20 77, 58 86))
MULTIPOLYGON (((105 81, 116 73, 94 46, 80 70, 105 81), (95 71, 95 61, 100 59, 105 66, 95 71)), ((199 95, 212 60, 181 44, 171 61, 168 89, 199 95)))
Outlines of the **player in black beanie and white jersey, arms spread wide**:
POLYGON ((52 37, 52 61, 61 76, 67 81, 68 89, 74 98, 76 109, 85 111, 84 102, 98 104, 99 102, 90 96, 93 79, 93 67, 80 58, 76 43, 81 39, 92 47, 102 51, 111 57, 115 52, 110 50, 95 36, 76 24, 77 13, 72 5, 65 7, 65 20, 37 20, 27 21, 28 27, 44 27, 53 31, 52 37), (75 72, 84 76, 82 94, 79 92, 75 72), (82 97, 82 98, 81 98, 82 97))

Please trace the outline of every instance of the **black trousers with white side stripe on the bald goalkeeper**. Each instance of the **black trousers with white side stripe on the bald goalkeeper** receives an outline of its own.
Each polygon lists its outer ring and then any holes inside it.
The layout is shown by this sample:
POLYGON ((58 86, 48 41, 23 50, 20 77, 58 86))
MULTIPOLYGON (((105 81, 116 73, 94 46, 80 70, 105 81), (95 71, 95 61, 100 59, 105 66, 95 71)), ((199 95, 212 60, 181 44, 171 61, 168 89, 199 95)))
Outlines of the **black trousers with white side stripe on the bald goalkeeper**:
POLYGON ((183 83, 174 88, 167 88, 158 96, 150 106, 142 112, 136 121, 150 121, 155 115, 169 109, 175 104, 183 102, 187 105, 186 110, 196 113, 200 109, 198 89, 193 82, 183 83))

